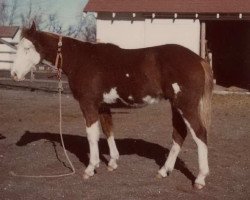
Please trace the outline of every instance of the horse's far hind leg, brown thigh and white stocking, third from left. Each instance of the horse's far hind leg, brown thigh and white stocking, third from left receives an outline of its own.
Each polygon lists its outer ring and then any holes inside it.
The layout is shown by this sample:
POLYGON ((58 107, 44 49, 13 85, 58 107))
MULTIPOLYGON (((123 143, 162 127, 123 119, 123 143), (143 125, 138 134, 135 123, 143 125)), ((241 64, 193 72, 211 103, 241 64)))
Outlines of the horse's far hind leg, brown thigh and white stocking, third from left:
POLYGON ((158 177, 166 177, 174 169, 177 156, 181 150, 181 146, 187 136, 187 128, 179 111, 172 106, 172 122, 173 122, 173 144, 168 154, 168 158, 164 166, 159 170, 158 177))

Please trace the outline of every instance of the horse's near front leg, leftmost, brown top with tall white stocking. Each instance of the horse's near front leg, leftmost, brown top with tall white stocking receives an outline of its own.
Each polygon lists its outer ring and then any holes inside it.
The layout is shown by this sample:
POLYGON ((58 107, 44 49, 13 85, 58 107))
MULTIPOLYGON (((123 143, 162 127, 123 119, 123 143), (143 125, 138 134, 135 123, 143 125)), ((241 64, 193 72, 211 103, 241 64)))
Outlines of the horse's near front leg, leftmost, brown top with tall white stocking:
POLYGON ((100 163, 98 141, 101 134, 101 125, 99 122, 98 109, 95 106, 85 105, 86 104, 80 102, 86 120, 86 132, 90 151, 89 165, 83 175, 84 179, 88 179, 94 175, 95 169, 99 167, 100 163))

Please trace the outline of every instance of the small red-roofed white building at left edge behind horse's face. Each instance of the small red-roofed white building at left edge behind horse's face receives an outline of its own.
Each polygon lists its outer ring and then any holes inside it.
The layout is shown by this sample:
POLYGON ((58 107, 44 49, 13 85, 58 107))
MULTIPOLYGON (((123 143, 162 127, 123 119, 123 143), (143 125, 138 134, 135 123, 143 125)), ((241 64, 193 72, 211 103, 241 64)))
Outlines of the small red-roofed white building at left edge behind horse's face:
MULTIPOLYGON (((17 26, 0 26, 0 39, 9 44, 16 45, 20 39, 21 30, 17 26)), ((12 63, 15 50, 7 43, 0 41, 0 70, 9 70, 12 63)))

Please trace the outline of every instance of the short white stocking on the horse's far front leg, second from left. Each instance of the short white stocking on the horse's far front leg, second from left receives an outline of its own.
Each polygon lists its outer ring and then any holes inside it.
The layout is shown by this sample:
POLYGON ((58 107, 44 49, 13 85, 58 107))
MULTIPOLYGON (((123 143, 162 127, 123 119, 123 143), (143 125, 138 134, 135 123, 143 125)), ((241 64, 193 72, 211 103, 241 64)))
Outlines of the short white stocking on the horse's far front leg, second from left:
POLYGON ((109 170, 113 171, 114 169, 117 168, 117 163, 116 161, 119 159, 119 152, 117 150, 116 144, 115 144, 115 139, 114 136, 111 135, 108 138, 108 145, 109 145, 109 151, 110 151, 110 161, 109 161, 109 170))

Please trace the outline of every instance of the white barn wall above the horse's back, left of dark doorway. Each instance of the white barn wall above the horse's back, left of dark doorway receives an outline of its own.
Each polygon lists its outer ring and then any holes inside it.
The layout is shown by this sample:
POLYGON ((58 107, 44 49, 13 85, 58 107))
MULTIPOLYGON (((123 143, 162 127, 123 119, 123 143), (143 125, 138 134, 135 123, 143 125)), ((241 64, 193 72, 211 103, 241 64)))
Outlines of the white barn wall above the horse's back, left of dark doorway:
POLYGON ((133 22, 97 19, 97 41, 113 43, 126 49, 180 44, 199 54, 200 22, 182 19, 145 19, 133 22))

